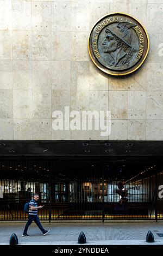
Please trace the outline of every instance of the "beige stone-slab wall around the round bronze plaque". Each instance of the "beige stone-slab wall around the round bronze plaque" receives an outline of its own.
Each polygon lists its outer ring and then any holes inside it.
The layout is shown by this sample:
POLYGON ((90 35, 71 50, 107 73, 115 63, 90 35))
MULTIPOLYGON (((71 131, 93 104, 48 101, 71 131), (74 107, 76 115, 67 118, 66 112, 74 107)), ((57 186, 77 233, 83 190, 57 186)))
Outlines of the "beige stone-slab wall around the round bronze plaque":
POLYGON ((162 0, 0 0, 0 139, 162 140, 162 0), (143 66, 116 78, 92 63, 87 40, 108 13, 147 29, 143 66), (111 134, 52 129, 52 113, 111 110, 111 134))

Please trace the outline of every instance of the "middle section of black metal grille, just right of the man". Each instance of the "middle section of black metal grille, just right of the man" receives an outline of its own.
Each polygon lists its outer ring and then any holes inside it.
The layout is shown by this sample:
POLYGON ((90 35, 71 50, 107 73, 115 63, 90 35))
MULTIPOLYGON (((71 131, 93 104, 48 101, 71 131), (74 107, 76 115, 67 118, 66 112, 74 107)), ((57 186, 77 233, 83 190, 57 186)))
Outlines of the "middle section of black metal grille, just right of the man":
MULTIPOLYGON (((55 165, 57 163, 53 163, 52 169, 55 169, 55 165)), ((103 172, 99 171, 103 163, 96 161, 95 165, 89 161, 62 162, 60 172, 52 182, 53 219, 104 217, 103 172)))

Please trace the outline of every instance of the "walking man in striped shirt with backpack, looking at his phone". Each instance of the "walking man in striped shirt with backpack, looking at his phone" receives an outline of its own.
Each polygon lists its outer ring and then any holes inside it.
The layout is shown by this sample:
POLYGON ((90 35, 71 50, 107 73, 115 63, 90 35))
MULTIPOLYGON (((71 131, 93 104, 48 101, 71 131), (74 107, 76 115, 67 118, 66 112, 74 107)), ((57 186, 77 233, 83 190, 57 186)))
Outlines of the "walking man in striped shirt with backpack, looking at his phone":
POLYGON ((27 230, 28 227, 30 226, 30 224, 32 224, 32 222, 34 221, 37 226, 39 227, 39 229, 42 231, 43 235, 46 235, 50 230, 45 230, 39 220, 39 217, 37 216, 37 211, 38 209, 43 208, 42 205, 37 206, 37 201, 39 200, 39 195, 38 194, 34 194, 34 198, 32 200, 30 200, 29 202, 29 212, 28 212, 28 222, 26 224, 26 227, 24 228, 24 232, 22 236, 29 236, 27 234, 27 230))

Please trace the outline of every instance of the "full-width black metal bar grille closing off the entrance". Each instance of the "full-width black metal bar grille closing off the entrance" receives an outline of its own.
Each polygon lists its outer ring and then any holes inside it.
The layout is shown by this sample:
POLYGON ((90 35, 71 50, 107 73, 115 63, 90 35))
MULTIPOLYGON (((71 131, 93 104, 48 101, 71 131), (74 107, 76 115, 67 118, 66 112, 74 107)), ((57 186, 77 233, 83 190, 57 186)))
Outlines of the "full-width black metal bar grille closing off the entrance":
POLYGON ((27 219, 23 207, 33 193, 45 205, 41 220, 163 219, 162 172, 149 162, 0 160, 0 221, 27 219))

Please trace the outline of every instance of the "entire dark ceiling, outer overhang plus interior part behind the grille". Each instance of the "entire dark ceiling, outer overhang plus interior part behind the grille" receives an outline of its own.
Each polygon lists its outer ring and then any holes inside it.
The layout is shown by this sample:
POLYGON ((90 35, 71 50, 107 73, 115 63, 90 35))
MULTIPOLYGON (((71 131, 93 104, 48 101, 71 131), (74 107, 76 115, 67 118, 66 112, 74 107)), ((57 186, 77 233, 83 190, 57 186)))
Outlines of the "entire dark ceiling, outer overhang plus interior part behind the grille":
POLYGON ((67 174, 95 177, 102 170, 114 179, 130 178, 154 165, 160 169, 162 156, 161 141, 0 141, 1 175, 12 173, 22 178, 30 174, 48 178, 49 171, 58 178, 67 174))

